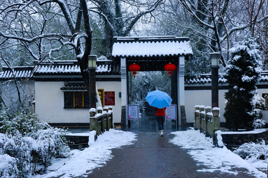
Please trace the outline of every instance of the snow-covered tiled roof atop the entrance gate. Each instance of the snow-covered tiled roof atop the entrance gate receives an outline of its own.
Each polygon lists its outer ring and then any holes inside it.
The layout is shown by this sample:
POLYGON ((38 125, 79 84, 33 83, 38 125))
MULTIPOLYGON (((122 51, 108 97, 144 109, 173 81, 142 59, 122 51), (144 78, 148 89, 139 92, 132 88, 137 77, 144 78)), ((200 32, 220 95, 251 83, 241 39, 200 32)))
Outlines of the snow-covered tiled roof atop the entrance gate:
POLYGON ((148 57, 192 55, 187 37, 114 37, 112 56, 148 57))

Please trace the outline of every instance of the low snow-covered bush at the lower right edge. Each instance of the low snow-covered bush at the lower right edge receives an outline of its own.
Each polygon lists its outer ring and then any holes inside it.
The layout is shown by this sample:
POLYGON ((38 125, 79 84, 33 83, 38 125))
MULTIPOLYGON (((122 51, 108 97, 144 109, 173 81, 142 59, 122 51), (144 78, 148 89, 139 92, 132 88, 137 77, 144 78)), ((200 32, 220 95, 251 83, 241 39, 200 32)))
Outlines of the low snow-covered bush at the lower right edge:
POLYGON ((241 158, 249 160, 250 162, 256 162, 258 160, 264 160, 268 163, 268 145, 265 144, 265 140, 260 143, 244 143, 239 146, 234 153, 238 154, 241 158))

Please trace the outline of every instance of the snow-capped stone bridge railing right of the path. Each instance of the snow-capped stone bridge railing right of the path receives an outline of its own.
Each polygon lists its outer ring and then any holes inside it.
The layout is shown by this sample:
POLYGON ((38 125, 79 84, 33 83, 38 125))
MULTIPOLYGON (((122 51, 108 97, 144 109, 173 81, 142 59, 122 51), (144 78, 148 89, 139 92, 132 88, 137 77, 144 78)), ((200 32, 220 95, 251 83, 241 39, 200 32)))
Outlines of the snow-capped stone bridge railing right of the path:
POLYGON ((211 112, 211 107, 195 106, 195 130, 199 129, 205 136, 211 136, 216 145, 215 132, 220 130, 219 110, 219 108, 213 108, 211 112))

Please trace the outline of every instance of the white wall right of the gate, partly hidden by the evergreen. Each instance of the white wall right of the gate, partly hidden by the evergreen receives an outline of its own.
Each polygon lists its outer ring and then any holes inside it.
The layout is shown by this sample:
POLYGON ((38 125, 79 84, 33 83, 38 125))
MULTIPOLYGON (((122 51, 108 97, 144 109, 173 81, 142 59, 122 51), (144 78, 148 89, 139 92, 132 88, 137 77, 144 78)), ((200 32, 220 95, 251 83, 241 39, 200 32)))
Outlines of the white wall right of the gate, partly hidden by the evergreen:
MULTIPOLYGON (((223 117, 225 101, 224 93, 227 89, 219 90, 220 122, 225 122, 223 117)), ((268 93, 268 89, 258 89, 258 94, 268 93)), ((211 90, 185 90, 185 112, 187 123, 194 123, 195 105, 211 106, 211 90)), ((268 110, 264 110, 263 120, 268 123, 268 110)))

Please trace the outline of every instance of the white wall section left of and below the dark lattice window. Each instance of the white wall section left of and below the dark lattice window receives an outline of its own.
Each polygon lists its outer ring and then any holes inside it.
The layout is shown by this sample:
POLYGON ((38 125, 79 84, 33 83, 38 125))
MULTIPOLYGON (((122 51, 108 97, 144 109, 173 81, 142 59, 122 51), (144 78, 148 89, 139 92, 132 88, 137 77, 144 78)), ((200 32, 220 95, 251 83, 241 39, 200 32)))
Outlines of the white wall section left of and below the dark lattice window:
POLYGON ((89 109, 64 109, 64 82, 35 82, 35 111, 51 123, 88 123, 89 109))

